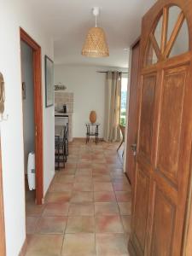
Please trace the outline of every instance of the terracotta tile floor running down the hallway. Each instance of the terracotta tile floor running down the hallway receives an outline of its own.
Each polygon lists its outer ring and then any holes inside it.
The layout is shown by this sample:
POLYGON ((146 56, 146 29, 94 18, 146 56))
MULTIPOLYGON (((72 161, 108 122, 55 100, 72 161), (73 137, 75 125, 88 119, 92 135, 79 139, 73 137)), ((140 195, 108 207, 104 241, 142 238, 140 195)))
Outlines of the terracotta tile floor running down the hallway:
POLYGON ((26 195, 26 256, 128 256, 131 188, 117 143, 74 141, 44 206, 26 195))

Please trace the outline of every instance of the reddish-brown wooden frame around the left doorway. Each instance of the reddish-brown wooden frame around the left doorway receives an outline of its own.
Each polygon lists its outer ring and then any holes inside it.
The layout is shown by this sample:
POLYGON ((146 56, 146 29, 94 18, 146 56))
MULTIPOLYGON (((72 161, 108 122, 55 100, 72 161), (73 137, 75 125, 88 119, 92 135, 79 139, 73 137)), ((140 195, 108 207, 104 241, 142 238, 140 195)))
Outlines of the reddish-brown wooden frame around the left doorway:
POLYGON ((43 203, 44 197, 44 161, 43 161, 43 99, 41 47, 20 27, 20 41, 32 48, 33 84, 34 84, 34 119, 35 119, 35 168, 36 202, 43 203))

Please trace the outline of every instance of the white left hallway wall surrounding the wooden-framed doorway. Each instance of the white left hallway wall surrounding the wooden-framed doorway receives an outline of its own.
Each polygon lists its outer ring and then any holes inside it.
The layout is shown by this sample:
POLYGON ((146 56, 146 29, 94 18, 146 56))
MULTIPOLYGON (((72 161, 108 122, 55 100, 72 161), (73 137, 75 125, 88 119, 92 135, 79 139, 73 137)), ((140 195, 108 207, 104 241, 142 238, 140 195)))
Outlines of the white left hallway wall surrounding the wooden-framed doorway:
MULTIPOLYGON (((18 256, 26 238, 24 146, 20 74, 20 26, 53 58, 53 42, 36 23, 25 0, 0 0, 0 72, 5 80, 5 116, 0 123, 7 256, 18 256)), ((45 104, 44 104, 45 106, 45 104)), ((44 108, 44 192, 54 175, 54 109, 44 108), (48 139, 49 138, 49 139, 48 139)))

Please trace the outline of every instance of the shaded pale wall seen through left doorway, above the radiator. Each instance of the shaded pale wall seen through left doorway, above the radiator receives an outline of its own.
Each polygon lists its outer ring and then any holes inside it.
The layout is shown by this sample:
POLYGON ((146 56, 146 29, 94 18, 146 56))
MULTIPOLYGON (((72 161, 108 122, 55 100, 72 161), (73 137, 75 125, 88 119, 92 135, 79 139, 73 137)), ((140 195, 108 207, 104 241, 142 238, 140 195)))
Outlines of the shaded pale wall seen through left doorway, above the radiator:
POLYGON ((24 160, 26 172, 28 154, 35 150, 33 62, 32 48, 24 42, 21 42, 20 46, 22 83, 24 82, 26 85, 26 98, 23 99, 24 160))

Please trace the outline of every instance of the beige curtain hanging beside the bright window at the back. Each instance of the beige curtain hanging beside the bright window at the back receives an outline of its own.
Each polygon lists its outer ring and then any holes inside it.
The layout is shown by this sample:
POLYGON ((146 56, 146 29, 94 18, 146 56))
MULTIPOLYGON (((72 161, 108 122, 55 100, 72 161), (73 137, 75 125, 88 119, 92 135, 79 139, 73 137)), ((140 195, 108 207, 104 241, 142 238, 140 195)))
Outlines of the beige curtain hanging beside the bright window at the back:
POLYGON ((121 73, 108 72, 105 87, 105 125, 104 140, 118 142, 120 140, 120 91, 121 73))

